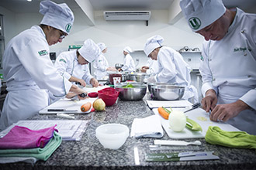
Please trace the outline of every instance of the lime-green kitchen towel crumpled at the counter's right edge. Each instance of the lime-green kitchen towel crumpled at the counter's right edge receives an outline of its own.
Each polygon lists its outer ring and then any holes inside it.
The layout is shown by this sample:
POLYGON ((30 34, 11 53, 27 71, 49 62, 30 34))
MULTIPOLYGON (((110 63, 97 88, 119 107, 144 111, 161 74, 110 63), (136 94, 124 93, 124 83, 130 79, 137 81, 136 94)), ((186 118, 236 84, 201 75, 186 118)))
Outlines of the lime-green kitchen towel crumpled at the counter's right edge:
POLYGON ((256 149, 256 136, 247 134, 245 131, 223 131, 217 126, 209 126, 205 139, 213 145, 256 149))

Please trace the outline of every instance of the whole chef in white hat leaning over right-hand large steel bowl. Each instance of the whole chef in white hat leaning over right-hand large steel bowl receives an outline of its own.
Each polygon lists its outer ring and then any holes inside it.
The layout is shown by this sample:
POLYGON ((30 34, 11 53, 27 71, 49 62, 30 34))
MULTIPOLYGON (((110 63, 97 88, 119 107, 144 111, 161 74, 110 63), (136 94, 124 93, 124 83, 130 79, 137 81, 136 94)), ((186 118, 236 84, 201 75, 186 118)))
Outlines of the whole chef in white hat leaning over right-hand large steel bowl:
POLYGON ((198 102, 198 93, 191 84, 190 66, 185 63, 182 55, 168 46, 162 46, 164 42, 161 36, 152 36, 147 39, 144 46, 144 53, 151 59, 157 60, 158 73, 147 79, 148 83, 176 83, 178 86, 185 87, 182 97, 192 103, 198 102))

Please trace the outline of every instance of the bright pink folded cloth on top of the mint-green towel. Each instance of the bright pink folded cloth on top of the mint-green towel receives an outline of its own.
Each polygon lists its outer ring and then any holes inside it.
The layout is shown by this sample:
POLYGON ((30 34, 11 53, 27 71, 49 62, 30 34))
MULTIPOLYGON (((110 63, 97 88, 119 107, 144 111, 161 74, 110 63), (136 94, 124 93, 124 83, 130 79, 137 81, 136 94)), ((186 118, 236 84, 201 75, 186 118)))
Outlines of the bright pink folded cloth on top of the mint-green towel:
POLYGON ((29 128, 15 126, 5 137, 0 138, 1 149, 17 148, 43 148, 54 136, 55 127, 40 130, 30 130, 29 128))

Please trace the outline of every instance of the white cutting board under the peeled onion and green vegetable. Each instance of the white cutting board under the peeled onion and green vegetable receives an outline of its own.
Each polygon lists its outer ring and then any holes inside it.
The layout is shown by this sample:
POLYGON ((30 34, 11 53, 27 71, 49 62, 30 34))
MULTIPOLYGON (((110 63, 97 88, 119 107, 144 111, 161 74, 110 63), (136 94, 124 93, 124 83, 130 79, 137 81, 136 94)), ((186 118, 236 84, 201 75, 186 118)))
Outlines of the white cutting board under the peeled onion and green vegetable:
MULTIPOLYGON (((173 110, 187 110, 187 109, 173 109, 173 110)), ((234 128, 234 126, 230 124, 226 124, 224 122, 214 122, 209 120, 209 113, 206 113, 205 110, 202 110, 201 108, 197 108, 195 110, 191 110, 186 112, 186 116, 193 121, 196 121, 200 126, 202 127, 201 131, 190 131, 189 129, 185 128, 181 132, 175 132, 172 131, 169 128, 168 120, 161 117, 161 115, 158 113, 157 108, 153 109, 154 114, 158 115, 161 119, 162 127, 164 128, 164 131, 168 134, 170 138, 175 139, 185 139, 185 138, 205 138, 206 131, 208 130, 209 126, 218 126, 223 131, 240 131, 237 128, 234 128), (203 120, 203 121, 202 121, 203 120)))

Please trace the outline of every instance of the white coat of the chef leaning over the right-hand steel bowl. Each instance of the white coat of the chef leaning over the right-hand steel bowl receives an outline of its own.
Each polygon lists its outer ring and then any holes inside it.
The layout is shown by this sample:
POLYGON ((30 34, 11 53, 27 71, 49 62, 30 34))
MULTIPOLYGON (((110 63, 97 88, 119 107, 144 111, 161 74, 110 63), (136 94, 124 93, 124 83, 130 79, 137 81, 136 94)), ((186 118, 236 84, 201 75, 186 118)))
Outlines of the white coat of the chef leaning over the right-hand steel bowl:
POLYGON ((157 54, 159 72, 155 76, 157 82, 176 83, 185 87, 184 100, 198 102, 197 90, 191 84, 189 64, 185 63, 182 55, 168 46, 163 46, 157 54), (192 100, 193 99, 193 100, 192 100))

